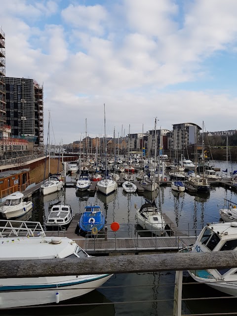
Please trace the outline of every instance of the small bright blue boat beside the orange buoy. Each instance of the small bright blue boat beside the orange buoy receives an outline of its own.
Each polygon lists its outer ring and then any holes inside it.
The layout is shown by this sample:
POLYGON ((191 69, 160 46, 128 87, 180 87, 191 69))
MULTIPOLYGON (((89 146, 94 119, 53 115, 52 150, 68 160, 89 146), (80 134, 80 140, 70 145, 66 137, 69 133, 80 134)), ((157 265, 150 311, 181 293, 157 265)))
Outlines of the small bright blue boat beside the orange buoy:
POLYGON ((83 232, 99 232, 105 226, 105 215, 97 204, 86 205, 79 220, 79 229, 83 232))

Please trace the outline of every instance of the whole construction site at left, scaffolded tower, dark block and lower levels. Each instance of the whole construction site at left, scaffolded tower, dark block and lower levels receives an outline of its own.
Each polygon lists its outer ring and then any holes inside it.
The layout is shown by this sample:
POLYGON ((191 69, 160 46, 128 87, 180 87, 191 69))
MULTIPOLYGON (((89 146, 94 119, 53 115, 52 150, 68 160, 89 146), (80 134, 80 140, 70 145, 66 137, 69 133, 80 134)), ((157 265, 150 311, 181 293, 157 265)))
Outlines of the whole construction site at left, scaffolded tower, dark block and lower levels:
POLYGON ((5 76, 5 34, 0 29, 0 166, 19 167, 43 155, 43 87, 5 76))

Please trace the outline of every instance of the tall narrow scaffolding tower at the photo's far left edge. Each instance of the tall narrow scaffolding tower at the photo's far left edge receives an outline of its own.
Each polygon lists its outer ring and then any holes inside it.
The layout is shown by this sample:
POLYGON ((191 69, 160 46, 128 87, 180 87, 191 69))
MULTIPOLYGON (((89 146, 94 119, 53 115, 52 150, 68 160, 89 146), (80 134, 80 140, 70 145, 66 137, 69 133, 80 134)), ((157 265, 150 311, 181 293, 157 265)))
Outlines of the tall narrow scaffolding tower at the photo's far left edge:
POLYGON ((6 124, 5 33, 0 28, 0 138, 6 124))

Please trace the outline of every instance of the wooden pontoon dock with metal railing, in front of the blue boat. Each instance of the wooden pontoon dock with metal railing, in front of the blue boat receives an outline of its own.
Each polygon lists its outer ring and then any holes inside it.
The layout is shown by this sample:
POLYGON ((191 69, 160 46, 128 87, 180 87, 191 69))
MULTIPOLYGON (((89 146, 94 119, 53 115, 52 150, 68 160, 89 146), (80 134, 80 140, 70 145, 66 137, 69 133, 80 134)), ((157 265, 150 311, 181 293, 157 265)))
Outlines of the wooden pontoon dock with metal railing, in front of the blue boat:
POLYGON ((72 240, 75 240, 82 249, 93 255, 122 255, 167 251, 176 252, 184 245, 195 243, 196 237, 188 237, 184 233, 179 232, 177 230, 177 226, 169 219, 169 217, 166 214, 162 215, 170 229, 175 231, 173 236, 141 237, 137 233, 136 237, 118 238, 116 233, 108 231, 107 235, 105 235, 105 232, 100 232, 99 235, 88 235, 86 237, 81 237, 75 233, 81 216, 80 213, 74 216, 66 232, 46 232, 46 236, 68 237, 72 240))

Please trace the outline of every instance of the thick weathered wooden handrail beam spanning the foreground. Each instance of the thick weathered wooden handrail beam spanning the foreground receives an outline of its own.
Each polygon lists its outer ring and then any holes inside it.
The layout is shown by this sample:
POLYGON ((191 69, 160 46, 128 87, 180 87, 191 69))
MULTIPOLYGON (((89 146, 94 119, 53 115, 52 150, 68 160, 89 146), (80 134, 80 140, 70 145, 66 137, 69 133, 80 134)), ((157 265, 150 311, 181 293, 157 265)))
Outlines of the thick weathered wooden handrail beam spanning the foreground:
POLYGON ((0 278, 124 274, 237 267, 236 251, 165 253, 81 259, 1 260, 0 278))

